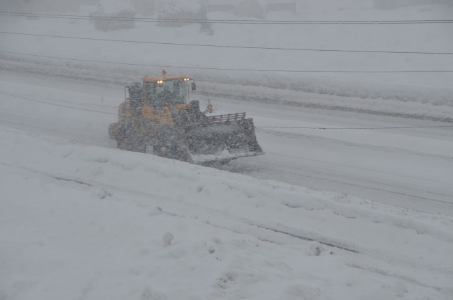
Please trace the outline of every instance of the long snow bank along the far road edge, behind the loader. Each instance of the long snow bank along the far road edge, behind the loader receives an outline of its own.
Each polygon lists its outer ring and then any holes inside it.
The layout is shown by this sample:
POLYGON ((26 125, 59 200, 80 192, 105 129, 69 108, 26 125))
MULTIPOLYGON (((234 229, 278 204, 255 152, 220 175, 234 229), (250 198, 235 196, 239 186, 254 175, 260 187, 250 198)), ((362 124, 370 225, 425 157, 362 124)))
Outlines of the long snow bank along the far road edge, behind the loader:
MULTIPOLYGON (((126 86, 144 74, 160 74, 155 68, 125 67, 83 62, 57 62, 24 56, 0 54, 2 67, 29 70, 43 76, 79 79, 126 86), (152 72, 150 72, 150 70, 152 72), (154 72, 154 73, 153 73, 154 72)), ((181 74, 181 69, 166 69, 181 74)), ((233 76, 228 72, 191 70, 196 81, 204 81, 209 95, 253 102, 287 104, 319 109, 357 111, 378 115, 400 116, 452 122, 452 88, 410 86, 376 82, 316 79, 287 74, 244 72, 233 76)), ((204 93, 202 90, 194 93, 204 93)))

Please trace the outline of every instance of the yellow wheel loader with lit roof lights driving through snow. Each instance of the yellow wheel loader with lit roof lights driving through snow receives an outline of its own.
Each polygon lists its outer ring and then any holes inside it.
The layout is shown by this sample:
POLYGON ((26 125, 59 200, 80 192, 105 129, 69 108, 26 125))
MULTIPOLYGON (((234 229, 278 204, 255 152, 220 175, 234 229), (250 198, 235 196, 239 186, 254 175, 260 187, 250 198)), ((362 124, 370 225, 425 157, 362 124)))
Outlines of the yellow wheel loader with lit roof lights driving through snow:
POLYGON ((190 77, 141 80, 125 87, 118 123, 109 126, 109 136, 116 139, 119 149, 192 164, 225 164, 264 154, 256 141, 252 118, 245 118, 245 113, 207 116, 213 112, 210 104, 201 111, 199 101, 190 101, 189 90, 196 89, 190 77))

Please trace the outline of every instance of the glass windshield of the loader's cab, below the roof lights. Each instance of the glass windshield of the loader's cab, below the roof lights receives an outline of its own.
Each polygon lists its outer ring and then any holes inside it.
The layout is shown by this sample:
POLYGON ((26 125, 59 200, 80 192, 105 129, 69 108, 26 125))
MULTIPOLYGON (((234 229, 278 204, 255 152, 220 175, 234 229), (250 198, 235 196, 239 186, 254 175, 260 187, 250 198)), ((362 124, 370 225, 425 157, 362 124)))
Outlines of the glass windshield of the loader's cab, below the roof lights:
POLYGON ((183 79, 164 81, 162 84, 145 81, 146 101, 151 106, 187 103, 187 87, 183 79))

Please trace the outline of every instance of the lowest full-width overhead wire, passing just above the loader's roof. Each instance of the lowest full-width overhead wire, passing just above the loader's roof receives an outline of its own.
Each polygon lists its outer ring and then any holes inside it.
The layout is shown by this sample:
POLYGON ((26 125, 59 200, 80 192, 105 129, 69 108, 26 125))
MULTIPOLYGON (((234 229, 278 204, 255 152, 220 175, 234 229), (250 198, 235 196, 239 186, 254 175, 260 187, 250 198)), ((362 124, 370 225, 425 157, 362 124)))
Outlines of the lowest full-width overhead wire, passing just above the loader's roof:
POLYGON ((88 59, 77 59, 77 58, 63 58, 63 57, 55 57, 55 56, 44 56, 44 55, 37 55, 37 54, 24 54, 24 53, 17 53, 17 52, 8 52, 8 51, 1 51, 2 53, 8 54, 18 54, 18 55, 26 55, 26 56, 36 56, 36 57, 43 57, 43 58, 53 58, 53 59, 63 59, 67 61, 84 61, 89 63, 110 63, 115 65, 138 65, 142 67, 159 67, 159 68, 180 68, 180 69, 200 69, 200 70, 223 70, 223 71, 256 71, 256 72, 319 72, 319 73, 419 73, 419 72, 453 72, 453 70, 406 70, 406 71, 315 71, 315 70, 259 70, 259 69, 232 69, 232 68, 203 68, 203 67, 183 67, 183 66, 174 66, 174 65, 146 65, 146 64, 139 64, 139 63, 115 63, 112 61, 91 61, 88 59))

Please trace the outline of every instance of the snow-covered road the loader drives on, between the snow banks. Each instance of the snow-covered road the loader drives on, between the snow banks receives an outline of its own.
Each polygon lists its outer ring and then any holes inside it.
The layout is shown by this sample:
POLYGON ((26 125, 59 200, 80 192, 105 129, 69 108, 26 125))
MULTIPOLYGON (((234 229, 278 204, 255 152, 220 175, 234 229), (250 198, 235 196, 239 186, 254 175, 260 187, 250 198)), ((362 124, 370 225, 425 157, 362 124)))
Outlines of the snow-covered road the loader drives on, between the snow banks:
MULTIPOLYGON (((116 113, 123 94, 121 86, 106 84, 13 75, 2 78, 1 90, 12 95, 110 113, 116 113), (17 84, 23 78, 29 84, 17 84)), ((114 115, 49 106, 6 95, 0 97, 2 126, 68 138, 77 143, 116 147, 116 143, 108 139, 106 130, 109 123, 116 121, 114 115)), ((199 97, 201 102, 205 100, 202 95, 194 97, 199 97)), ((212 99, 220 112, 247 111, 257 127, 451 124, 217 97, 212 99)), ((346 193, 422 212, 453 215, 452 127, 335 131, 257 128, 256 134, 267 155, 231 161, 224 166, 225 170, 321 191, 346 193)))

